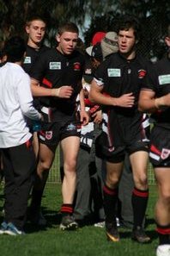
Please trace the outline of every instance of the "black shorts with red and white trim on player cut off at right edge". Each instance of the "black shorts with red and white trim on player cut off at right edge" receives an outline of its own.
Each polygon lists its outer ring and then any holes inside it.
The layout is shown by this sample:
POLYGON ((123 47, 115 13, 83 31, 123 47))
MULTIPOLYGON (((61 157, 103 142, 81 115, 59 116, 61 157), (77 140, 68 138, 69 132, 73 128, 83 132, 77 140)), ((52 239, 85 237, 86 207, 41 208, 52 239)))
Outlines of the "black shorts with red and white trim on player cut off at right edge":
POLYGON ((170 129, 156 126, 152 129, 149 159, 154 167, 170 167, 170 129))

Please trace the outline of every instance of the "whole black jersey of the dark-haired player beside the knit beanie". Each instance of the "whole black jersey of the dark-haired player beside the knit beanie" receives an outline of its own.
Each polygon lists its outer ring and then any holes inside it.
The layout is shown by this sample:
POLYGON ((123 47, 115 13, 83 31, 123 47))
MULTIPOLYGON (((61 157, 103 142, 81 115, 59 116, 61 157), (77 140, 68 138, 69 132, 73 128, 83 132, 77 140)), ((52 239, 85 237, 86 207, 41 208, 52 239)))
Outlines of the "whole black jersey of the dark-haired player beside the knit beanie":
POLYGON ((139 91, 146 83, 150 66, 151 63, 140 55, 128 60, 119 53, 113 53, 94 73, 97 83, 103 85, 103 93, 106 96, 121 97, 126 93, 133 93, 136 98, 132 108, 103 106, 103 112, 107 116, 106 130, 112 145, 133 143, 135 138, 140 136, 140 140, 146 139, 143 113, 138 111, 137 102, 139 91))

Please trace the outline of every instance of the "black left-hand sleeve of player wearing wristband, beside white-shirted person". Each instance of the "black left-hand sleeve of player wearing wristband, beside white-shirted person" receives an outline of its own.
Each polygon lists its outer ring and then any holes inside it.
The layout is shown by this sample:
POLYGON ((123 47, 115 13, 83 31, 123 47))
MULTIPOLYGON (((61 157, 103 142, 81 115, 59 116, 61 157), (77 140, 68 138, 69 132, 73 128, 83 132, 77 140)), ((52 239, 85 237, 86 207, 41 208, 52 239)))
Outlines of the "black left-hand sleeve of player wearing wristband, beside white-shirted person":
POLYGON ((32 66, 30 77, 37 81, 41 81, 42 78, 44 78, 45 76, 47 65, 48 65, 47 63, 48 62, 46 61, 46 52, 41 53, 39 55, 39 58, 36 59, 34 65, 32 66))

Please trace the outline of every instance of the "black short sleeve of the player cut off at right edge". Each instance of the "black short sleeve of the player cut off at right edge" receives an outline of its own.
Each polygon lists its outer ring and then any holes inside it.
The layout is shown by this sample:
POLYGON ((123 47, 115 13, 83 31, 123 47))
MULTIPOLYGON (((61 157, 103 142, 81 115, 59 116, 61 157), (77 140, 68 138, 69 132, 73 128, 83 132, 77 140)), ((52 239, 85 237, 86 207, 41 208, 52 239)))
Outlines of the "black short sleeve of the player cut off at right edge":
POLYGON ((157 78, 156 78, 155 64, 149 63, 147 66, 147 72, 146 72, 145 78, 143 79, 141 89, 156 91, 156 84, 157 84, 157 78))

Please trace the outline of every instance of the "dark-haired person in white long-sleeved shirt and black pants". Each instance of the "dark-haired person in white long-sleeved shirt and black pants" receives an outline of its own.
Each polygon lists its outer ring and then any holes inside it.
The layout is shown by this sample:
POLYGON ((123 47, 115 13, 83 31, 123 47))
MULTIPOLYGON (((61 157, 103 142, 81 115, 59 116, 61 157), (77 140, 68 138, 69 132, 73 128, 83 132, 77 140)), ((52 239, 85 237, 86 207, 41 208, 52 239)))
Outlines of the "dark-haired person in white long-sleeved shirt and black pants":
POLYGON ((21 67, 25 42, 15 36, 6 41, 7 63, 0 68, 0 150, 3 154, 4 221, 0 234, 24 234, 27 199, 33 183, 35 156, 26 119, 39 122, 33 107, 30 78, 21 67))

